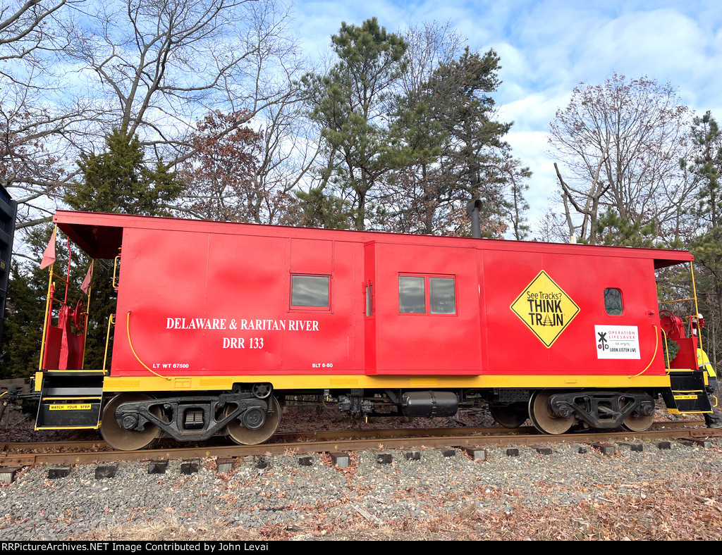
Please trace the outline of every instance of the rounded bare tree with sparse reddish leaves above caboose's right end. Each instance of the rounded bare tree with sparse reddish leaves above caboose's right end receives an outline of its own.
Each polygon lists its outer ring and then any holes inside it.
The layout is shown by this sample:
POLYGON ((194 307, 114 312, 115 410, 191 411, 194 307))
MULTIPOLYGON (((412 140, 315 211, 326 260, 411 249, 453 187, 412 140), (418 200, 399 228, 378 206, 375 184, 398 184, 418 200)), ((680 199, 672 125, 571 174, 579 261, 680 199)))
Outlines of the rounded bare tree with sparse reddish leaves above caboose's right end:
POLYGON ((676 90, 651 79, 576 87, 550 125, 570 234, 595 243, 601 210, 633 226, 674 225, 692 195, 679 168, 690 118, 676 90))

